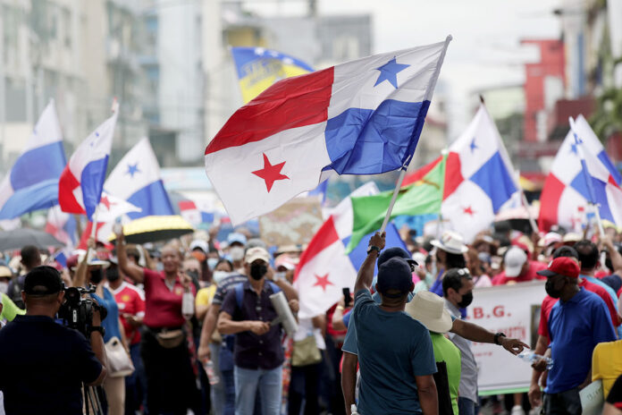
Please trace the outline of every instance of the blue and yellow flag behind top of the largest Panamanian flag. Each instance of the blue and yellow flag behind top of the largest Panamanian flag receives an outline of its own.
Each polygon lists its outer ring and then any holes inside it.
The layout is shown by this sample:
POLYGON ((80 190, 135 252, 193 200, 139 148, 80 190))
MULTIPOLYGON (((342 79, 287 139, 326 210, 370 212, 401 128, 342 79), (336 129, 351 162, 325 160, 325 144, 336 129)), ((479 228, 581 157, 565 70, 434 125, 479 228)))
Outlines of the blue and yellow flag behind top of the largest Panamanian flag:
POLYGON ((314 71, 293 56, 264 47, 231 47, 231 55, 245 104, 277 80, 314 71))

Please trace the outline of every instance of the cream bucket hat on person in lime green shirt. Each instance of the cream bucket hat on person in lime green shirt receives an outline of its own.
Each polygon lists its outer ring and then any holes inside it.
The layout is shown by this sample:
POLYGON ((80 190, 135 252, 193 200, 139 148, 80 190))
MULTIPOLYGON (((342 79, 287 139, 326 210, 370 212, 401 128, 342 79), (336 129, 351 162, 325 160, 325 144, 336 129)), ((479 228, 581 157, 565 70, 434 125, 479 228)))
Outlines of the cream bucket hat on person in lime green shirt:
POLYGON ((406 312, 434 333, 447 333, 453 325, 444 301, 433 292, 417 292, 413 300, 406 303, 406 312))

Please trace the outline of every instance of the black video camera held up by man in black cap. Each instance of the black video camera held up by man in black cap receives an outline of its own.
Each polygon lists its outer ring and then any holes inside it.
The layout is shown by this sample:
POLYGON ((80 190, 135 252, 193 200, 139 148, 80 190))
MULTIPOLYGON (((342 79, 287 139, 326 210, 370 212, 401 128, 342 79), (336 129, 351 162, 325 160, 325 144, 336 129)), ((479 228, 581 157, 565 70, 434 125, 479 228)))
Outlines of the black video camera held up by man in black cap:
POLYGON ((63 319, 67 326, 78 330, 88 338, 88 327, 93 325, 93 310, 99 310, 101 319, 104 320, 107 311, 90 297, 83 298, 83 294, 95 292, 95 285, 88 288, 69 287, 64 289, 65 302, 58 310, 58 318, 63 319))

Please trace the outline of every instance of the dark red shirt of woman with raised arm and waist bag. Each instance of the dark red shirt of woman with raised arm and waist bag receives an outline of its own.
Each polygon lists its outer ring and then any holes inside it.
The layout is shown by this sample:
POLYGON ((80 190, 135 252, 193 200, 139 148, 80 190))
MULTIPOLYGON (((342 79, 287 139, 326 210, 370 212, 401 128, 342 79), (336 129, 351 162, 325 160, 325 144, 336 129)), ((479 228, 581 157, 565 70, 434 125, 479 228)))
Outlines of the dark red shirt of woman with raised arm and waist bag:
MULTIPOLYGON (((179 327, 186 321, 181 315, 181 297, 184 288, 180 277, 175 277, 172 290, 166 286, 164 271, 157 272, 143 268, 145 275, 145 319, 147 327, 179 327)), ((192 294, 195 287, 190 284, 192 294)))

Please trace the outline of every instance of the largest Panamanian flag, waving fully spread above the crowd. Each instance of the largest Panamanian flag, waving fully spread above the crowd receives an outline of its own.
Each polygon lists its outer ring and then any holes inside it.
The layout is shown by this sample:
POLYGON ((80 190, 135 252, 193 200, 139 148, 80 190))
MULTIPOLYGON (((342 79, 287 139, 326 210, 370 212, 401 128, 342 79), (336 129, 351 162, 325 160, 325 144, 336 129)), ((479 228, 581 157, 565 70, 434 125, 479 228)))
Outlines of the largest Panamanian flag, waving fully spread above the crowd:
POLYGON ((280 80, 231 115, 205 154, 231 222, 270 212, 331 172, 407 165, 450 40, 280 80))

